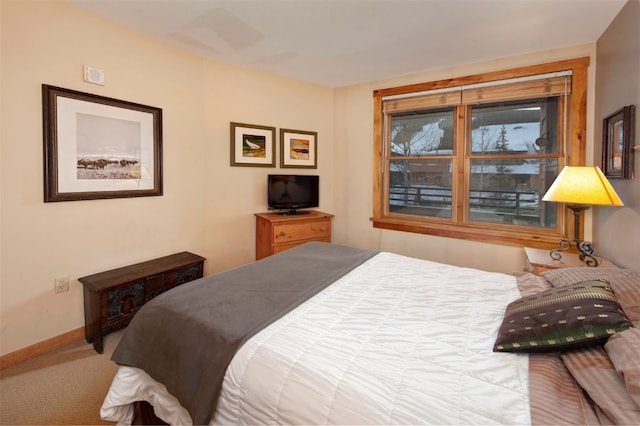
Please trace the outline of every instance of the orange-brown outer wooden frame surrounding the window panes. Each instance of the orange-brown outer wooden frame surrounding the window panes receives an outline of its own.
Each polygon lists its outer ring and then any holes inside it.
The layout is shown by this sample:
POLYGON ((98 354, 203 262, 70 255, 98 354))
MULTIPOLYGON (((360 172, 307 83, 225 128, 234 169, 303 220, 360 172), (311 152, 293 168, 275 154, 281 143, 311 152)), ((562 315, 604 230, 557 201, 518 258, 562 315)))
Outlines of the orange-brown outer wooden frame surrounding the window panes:
MULTIPOLYGON (((557 246, 559 238, 567 238, 573 235, 573 215, 571 211, 558 204, 557 218, 560 231, 549 232, 540 230, 536 232, 527 228, 527 232, 518 229, 505 230, 493 229, 491 224, 482 226, 474 224, 442 223, 433 218, 423 218, 415 215, 400 215, 386 212, 388 192, 388 179, 385 176, 385 146, 384 146, 384 120, 383 98, 395 95, 427 92, 438 89, 448 89, 459 86, 467 86, 478 83, 496 82, 513 78, 522 78, 543 75, 548 73, 571 71, 571 94, 568 95, 567 107, 569 108, 569 120, 567 125, 566 150, 564 151, 564 165, 584 165, 586 158, 586 112, 587 112, 587 72, 589 57, 568 59, 533 66, 513 68, 509 70, 494 71, 465 77, 454 77, 446 80, 438 80, 427 83, 418 83, 387 89, 378 89, 373 92, 374 103, 374 167, 373 167, 373 215, 371 221, 374 228, 389 229, 395 231, 413 232, 419 234, 437 235, 442 237, 459 238, 466 240, 484 241, 515 246, 527 246, 537 248, 552 248, 557 246)), ((457 120, 456 132, 464 133, 464 123, 457 120)), ((563 164, 559 164, 559 170, 563 164)), ((459 164, 458 166, 463 166, 459 164)), ((558 170, 558 171, 559 171, 558 170)), ((463 187, 465 174, 464 167, 458 167, 458 188, 463 187)), ((452 206, 452 215, 465 214, 464 203, 452 206)), ((581 227, 584 226, 582 223, 581 227)))

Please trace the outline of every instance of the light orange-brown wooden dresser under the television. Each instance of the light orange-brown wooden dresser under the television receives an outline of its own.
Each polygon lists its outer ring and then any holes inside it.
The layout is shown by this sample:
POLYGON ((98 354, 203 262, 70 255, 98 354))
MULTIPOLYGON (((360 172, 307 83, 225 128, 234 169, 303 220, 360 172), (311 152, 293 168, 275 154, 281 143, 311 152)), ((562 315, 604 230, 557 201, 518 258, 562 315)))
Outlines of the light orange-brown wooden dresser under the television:
POLYGON ((256 260, 309 241, 331 242, 332 214, 256 213, 256 260))

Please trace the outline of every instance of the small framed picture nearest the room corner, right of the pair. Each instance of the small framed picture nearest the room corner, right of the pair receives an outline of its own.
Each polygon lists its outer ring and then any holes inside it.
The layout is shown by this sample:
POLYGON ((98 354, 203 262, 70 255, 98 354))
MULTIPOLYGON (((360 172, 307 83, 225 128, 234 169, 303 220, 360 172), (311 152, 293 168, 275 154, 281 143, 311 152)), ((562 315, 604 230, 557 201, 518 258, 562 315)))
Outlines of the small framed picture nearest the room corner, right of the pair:
POLYGON ((280 129, 280 167, 316 169, 318 133, 280 129))

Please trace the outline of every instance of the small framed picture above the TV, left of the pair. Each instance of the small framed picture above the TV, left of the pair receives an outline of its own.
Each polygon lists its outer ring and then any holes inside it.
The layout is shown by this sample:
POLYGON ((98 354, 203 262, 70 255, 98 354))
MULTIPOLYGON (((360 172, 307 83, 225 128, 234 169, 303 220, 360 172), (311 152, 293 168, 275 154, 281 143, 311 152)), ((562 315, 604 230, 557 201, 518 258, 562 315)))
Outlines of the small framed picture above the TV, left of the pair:
POLYGON ((276 128, 231 122, 231 165, 276 166, 276 128))

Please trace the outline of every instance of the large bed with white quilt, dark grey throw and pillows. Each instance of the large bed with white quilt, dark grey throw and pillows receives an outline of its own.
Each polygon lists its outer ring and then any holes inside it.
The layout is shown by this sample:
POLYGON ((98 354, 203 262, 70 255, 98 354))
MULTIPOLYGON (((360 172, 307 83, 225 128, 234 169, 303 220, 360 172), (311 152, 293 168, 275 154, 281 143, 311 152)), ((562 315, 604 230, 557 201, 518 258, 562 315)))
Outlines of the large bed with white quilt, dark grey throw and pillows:
POLYGON ((638 271, 512 276, 308 243, 147 303, 101 417, 131 424, 146 401, 170 424, 640 424, 638 323, 638 271), (512 335, 567 292, 601 298, 583 337, 571 320, 512 335))

